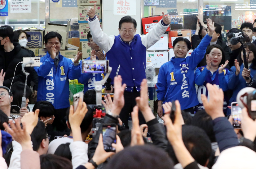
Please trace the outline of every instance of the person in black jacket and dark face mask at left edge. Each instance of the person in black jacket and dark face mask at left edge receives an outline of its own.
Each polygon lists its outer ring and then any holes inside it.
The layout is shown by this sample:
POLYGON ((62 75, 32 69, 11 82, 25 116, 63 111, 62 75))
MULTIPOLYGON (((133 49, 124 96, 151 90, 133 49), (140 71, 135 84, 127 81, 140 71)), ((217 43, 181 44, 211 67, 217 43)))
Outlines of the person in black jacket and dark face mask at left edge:
MULTIPOLYGON (((12 27, 8 25, 0 27, 0 70, 3 69, 3 72, 5 72, 3 85, 8 88, 10 88, 12 80, 13 83, 16 81, 25 83, 26 75, 22 72, 21 63, 19 62, 23 61, 23 57, 30 57, 29 53, 22 49, 18 42, 13 41, 13 37, 14 32, 12 27)), ((31 72, 32 68, 25 67, 25 71, 31 72)), ((31 74, 28 75, 27 85, 31 85, 31 74)))

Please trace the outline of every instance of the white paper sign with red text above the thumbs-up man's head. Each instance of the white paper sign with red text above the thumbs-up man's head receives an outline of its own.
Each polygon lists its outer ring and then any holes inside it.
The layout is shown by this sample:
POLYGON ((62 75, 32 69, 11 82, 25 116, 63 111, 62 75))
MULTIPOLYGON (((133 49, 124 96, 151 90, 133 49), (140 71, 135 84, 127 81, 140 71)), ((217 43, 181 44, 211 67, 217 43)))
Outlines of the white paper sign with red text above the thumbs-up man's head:
POLYGON ((136 15, 136 0, 114 0, 114 15, 136 15))

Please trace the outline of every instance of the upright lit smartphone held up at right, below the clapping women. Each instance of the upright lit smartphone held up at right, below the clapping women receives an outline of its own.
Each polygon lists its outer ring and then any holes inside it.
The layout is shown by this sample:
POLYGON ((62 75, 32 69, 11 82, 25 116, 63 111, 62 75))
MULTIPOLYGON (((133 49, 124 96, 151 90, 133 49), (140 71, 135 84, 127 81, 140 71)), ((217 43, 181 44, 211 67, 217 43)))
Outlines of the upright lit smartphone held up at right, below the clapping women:
POLYGON ((231 115, 233 119, 233 127, 241 128, 242 108, 239 107, 237 102, 231 104, 231 115))

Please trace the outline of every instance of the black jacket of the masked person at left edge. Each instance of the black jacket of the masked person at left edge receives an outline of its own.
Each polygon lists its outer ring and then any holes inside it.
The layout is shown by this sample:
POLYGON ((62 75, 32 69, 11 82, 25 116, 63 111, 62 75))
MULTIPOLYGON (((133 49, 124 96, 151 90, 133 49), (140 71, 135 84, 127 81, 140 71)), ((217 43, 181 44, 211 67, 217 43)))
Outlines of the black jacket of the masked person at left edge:
MULTIPOLYGON (((14 45, 14 55, 13 56, 8 56, 8 57, 12 57, 12 61, 9 63, 9 65, 5 65, 5 52, 4 50, 0 50, 0 70, 3 69, 5 72, 5 77, 4 77, 4 86, 10 88, 10 85, 12 83, 17 82, 17 81, 21 81, 23 83, 25 83, 26 80, 26 75, 22 72, 22 68, 21 68, 21 64, 18 64, 19 62, 22 62, 22 58, 23 57, 30 57, 29 53, 22 49, 21 46, 19 45, 18 42, 13 42, 14 45), (17 66, 18 64, 18 66, 17 66), (15 76, 13 78, 14 75, 14 70, 15 67, 16 71, 15 71, 15 76)), ((33 67, 25 67, 25 71, 26 72, 32 72, 32 68, 33 67)), ((31 76, 28 75, 27 78, 27 85, 30 86, 30 81, 31 81, 31 76)))

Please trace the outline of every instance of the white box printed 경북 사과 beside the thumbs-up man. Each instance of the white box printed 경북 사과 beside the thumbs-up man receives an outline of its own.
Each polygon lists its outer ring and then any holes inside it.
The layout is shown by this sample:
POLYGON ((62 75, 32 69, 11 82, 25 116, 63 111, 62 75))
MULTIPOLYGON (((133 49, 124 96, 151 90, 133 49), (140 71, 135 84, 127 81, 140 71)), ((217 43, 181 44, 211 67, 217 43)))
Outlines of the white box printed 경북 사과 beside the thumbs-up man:
POLYGON ((146 52, 146 64, 153 63, 156 68, 160 68, 164 63, 169 61, 169 53, 165 51, 146 52))

